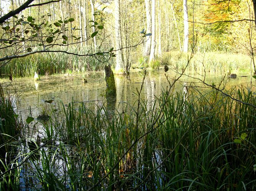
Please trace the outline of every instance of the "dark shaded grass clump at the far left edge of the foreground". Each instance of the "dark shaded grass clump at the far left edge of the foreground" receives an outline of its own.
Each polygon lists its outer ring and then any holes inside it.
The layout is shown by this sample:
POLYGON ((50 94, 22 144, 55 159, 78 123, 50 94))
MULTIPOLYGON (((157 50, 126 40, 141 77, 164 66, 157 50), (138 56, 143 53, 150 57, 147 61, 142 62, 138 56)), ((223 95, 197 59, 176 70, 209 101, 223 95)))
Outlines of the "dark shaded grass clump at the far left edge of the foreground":
MULTIPOLYGON (((5 95, 0 84, 0 174, 16 165, 21 125, 16 115, 15 98, 5 95)), ((0 190, 18 189, 19 170, 0 176, 0 190)))

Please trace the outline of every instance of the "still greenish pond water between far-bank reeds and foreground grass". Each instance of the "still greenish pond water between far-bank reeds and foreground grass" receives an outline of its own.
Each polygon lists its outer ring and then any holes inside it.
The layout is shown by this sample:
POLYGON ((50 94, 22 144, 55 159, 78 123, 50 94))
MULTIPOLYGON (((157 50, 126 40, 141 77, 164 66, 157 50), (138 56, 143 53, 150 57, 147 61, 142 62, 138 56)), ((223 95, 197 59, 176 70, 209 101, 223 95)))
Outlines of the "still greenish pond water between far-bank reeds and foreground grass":
MULTIPOLYGON (((204 79, 203 76, 190 73, 193 78, 204 79)), ((18 106, 18 112, 25 118, 28 115, 36 118, 42 113, 45 108, 51 106, 56 107, 56 103, 60 100, 63 105, 68 105, 73 102, 84 102, 90 105, 106 104, 105 92, 106 82, 103 71, 88 72, 86 74, 88 83, 83 83, 81 75, 53 75, 41 76, 40 81, 35 81, 31 78, 17 78, 13 81, 2 79, 1 84, 5 91, 12 95, 18 106), (53 100, 51 102, 51 100, 53 100), (48 103, 47 101, 50 101, 48 103)), ((173 79, 179 76, 174 71, 164 72, 163 69, 147 71, 144 84, 144 70, 132 70, 130 76, 115 76, 116 82, 116 100, 112 102, 110 108, 113 110, 124 109, 126 103, 134 104, 138 100, 138 91, 142 86, 140 98, 147 100, 150 105, 155 97, 159 97, 161 92, 172 84, 173 79), (169 82, 168 82, 169 81, 169 82)), ((237 78, 227 78, 225 74, 207 74, 205 82, 215 84, 217 87, 221 83, 221 87, 225 84, 225 89, 230 89, 234 86, 244 85, 251 87, 251 91, 255 92, 255 80, 250 74, 239 73, 237 78), (224 79, 224 80, 223 80, 224 79)), ((227 76, 227 75, 226 75, 227 76)), ((174 92, 182 91, 185 86, 203 87, 198 84, 197 79, 182 76, 175 83, 174 92)))

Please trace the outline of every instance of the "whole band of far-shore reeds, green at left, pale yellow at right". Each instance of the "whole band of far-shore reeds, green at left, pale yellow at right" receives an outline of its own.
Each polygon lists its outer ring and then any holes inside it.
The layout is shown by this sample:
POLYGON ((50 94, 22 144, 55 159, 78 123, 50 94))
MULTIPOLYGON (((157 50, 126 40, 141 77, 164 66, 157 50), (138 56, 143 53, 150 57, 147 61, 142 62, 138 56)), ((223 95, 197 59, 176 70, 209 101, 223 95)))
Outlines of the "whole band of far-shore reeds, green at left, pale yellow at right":
MULTIPOLYGON (((165 52, 161 58, 152 63, 147 57, 132 58, 131 68, 151 67, 158 69, 167 65, 174 70, 183 70, 187 65, 189 53, 179 51, 165 52)), ((114 65, 113 60, 109 60, 114 65)), ((100 63, 96 58, 75 57, 64 53, 45 53, 30 55, 25 58, 13 59, 0 68, 0 78, 31 77, 35 72, 44 75, 85 73, 86 71, 104 70, 106 63, 100 63)), ((188 65, 189 71, 197 73, 251 73, 251 57, 244 54, 205 52, 195 53, 188 65)))

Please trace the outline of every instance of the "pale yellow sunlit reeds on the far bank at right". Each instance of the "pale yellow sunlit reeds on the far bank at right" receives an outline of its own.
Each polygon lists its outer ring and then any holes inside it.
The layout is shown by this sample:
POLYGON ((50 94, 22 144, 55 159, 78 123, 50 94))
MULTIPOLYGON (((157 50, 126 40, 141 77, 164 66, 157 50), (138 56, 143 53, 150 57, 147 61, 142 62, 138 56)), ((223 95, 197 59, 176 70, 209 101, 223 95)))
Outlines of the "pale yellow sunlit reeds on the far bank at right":
MULTIPOLYGON (((182 70, 187 65, 188 55, 177 51, 166 52, 161 58, 161 63, 182 70)), ((253 65, 251 65, 249 55, 221 52, 197 52, 188 65, 189 71, 197 71, 198 73, 251 73, 251 68, 253 65)))

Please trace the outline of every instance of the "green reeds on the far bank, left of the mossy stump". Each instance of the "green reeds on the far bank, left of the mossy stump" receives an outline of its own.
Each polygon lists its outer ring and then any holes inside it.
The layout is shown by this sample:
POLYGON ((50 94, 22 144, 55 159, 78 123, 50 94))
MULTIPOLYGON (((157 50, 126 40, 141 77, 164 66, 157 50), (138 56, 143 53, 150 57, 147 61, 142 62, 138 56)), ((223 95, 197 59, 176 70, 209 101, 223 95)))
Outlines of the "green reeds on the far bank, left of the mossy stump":
MULTIPOLYGON (((66 49, 61 50, 66 51, 66 49)), ((69 52, 83 55, 93 53, 93 50, 90 47, 81 49, 74 46, 69 47, 69 52)), ((7 78, 10 75, 30 77, 34 76, 35 72, 40 75, 49 75, 103 70, 104 61, 106 60, 103 56, 78 57, 61 52, 33 54, 24 58, 12 59, 7 65, 0 67, 0 78, 7 78)))

